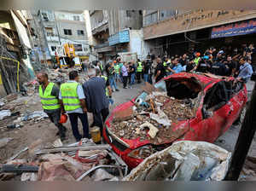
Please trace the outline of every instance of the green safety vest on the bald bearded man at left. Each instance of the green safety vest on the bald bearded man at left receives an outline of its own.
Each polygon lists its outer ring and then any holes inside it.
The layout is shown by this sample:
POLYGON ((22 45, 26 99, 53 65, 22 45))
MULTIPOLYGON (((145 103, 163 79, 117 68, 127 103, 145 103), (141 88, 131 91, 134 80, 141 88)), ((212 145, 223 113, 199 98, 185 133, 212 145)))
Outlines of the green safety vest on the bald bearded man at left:
POLYGON ((54 110, 61 108, 58 99, 55 96, 50 96, 54 85, 54 83, 50 82, 44 90, 44 93, 42 85, 39 87, 39 96, 41 97, 41 103, 44 109, 54 110))

